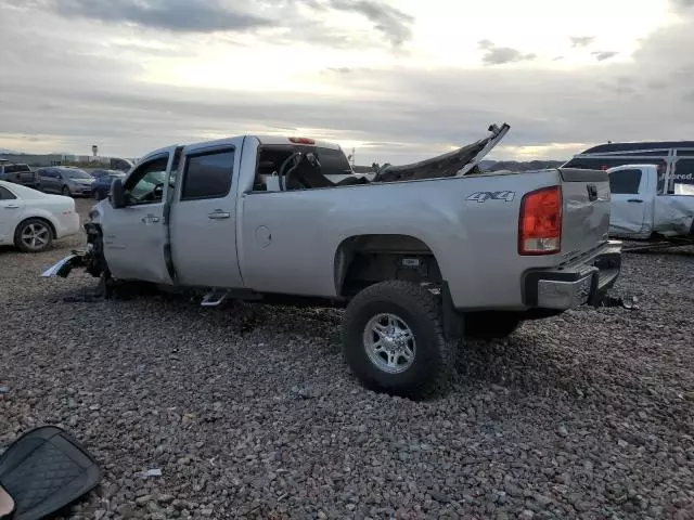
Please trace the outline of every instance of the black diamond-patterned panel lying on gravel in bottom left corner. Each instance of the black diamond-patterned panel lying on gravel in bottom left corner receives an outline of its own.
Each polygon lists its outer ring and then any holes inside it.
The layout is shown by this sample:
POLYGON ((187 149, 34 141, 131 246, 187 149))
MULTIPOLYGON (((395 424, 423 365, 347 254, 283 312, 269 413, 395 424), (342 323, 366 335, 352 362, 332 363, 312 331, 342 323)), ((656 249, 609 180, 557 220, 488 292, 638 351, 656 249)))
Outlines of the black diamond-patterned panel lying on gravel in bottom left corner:
POLYGON ((24 433, 0 456, 0 494, 14 510, 2 520, 38 520, 75 503, 99 484, 103 470, 66 431, 42 426, 24 433))

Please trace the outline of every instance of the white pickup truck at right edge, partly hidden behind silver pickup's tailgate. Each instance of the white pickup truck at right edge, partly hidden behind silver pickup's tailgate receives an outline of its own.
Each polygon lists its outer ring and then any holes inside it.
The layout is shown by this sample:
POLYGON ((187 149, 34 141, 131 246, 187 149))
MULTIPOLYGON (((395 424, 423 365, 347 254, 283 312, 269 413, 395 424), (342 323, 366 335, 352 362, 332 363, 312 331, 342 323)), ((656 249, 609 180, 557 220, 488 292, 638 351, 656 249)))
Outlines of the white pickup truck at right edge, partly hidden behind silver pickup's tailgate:
POLYGON ((607 169, 612 192, 609 233, 645 239, 694 236, 694 186, 672 183, 657 165, 622 165, 607 169), (669 192, 673 193, 669 193, 669 192))

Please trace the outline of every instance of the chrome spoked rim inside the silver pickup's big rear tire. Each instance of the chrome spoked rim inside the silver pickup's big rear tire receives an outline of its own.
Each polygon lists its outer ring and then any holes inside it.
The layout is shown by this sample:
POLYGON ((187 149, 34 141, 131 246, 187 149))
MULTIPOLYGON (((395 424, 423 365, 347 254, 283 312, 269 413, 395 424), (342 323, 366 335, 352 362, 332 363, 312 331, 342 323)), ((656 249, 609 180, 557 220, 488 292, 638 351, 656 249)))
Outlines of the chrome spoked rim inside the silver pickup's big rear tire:
POLYGON ((364 327, 363 343, 369 360, 388 374, 400 374, 414 362, 414 335, 395 314, 373 316, 364 327))

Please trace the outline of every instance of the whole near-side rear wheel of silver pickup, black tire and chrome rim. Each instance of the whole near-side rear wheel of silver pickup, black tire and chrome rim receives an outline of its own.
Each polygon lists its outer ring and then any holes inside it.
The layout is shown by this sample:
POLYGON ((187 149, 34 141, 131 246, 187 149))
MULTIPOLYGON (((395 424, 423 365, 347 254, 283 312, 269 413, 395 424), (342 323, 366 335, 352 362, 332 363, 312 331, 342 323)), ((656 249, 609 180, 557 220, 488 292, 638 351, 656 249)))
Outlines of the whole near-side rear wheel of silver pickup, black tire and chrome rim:
POLYGON ((444 337, 437 297, 402 281, 367 287, 349 302, 343 349, 367 388, 411 399, 446 389, 457 350, 444 337))

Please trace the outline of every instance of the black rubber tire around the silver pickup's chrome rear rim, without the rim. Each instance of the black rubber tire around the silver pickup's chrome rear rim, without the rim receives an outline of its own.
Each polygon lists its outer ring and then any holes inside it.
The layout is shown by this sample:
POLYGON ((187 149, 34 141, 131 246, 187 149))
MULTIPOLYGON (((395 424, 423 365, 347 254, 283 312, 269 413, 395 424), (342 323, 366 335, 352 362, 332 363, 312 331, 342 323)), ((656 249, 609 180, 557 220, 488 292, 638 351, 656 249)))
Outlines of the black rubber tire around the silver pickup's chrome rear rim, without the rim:
POLYGON ((410 399, 445 393, 454 372, 457 350, 457 344, 444 337, 438 298, 417 284, 382 282, 363 289, 347 306, 343 351, 357 378, 371 390, 410 399), (368 353, 367 326, 382 313, 396 316, 414 339, 413 361, 399 373, 386 372, 368 353))

